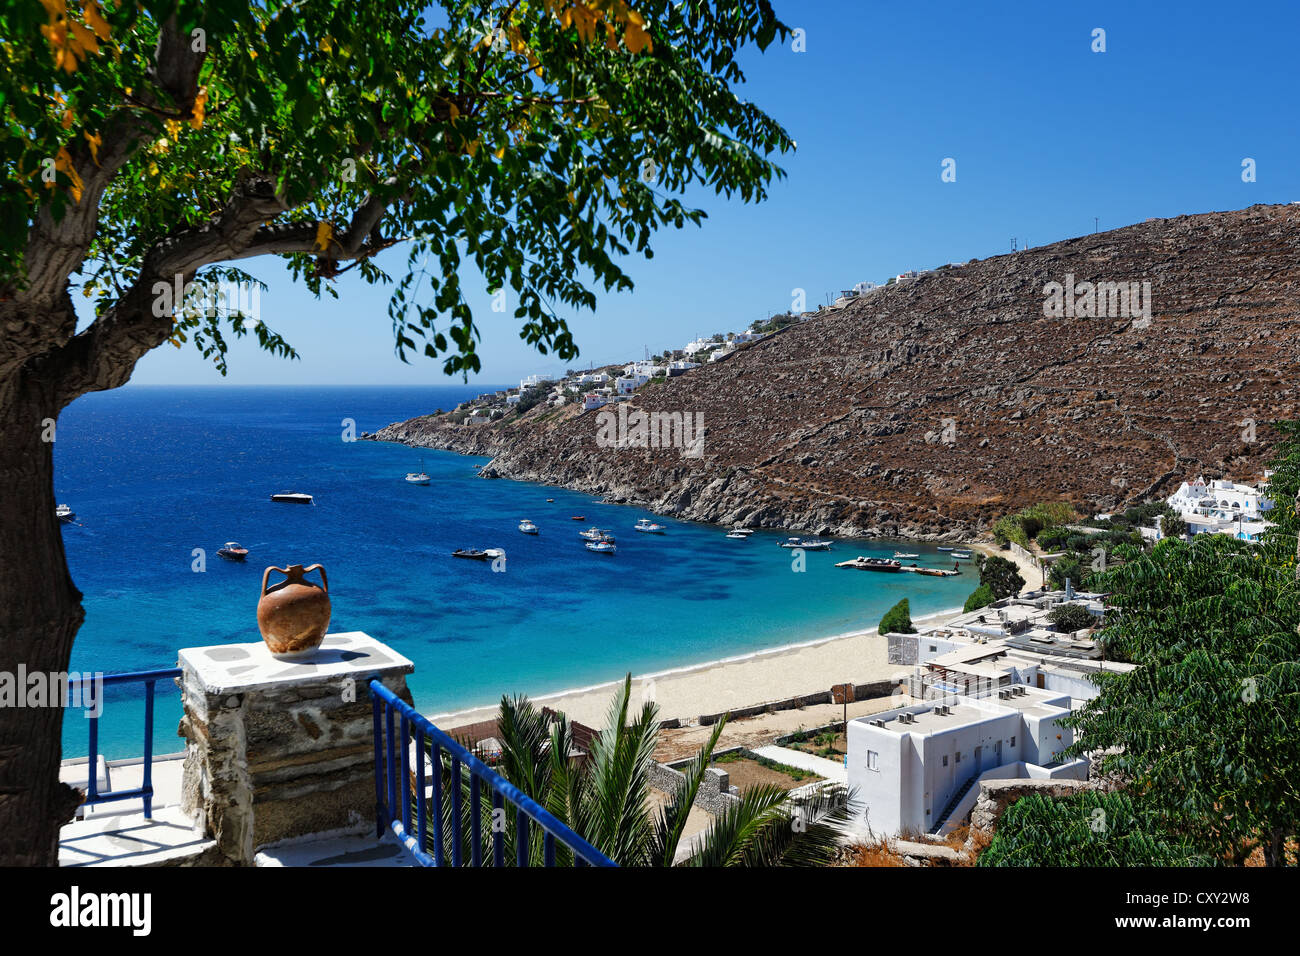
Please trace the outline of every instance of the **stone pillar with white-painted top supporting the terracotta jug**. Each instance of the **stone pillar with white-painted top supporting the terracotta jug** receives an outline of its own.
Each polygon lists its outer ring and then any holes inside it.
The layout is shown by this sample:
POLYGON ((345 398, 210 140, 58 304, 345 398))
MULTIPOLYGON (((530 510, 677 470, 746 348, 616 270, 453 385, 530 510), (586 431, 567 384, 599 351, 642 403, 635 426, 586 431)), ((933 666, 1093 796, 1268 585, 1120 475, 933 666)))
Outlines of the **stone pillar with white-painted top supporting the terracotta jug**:
POLYGON ((360 631, 296 661, 266 645, 181 650, 182 808, 237 865, 291 836, 373 826, 374 736, 367 682, 411 702, 402 654, 360 631))

